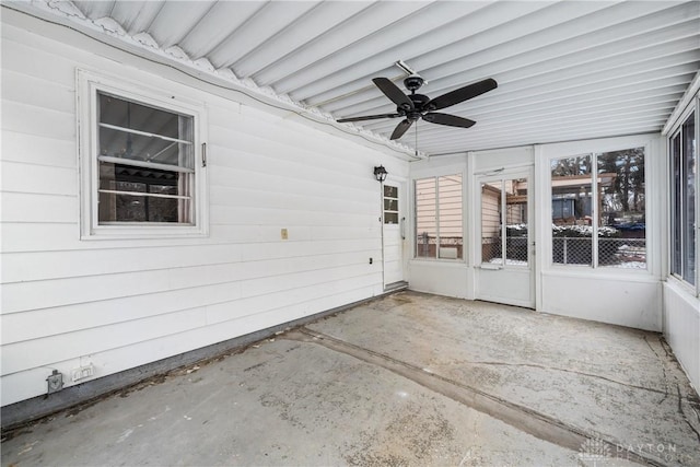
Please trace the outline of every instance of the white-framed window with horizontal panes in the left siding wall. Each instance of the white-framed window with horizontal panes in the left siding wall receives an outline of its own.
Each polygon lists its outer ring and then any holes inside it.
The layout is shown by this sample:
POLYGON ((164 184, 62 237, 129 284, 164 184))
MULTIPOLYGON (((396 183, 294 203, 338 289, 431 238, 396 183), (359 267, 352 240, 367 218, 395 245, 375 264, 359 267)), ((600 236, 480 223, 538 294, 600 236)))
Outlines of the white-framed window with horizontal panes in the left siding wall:
POLYGON ((205 233, 201 109, 79 77, 83 237, 205 233))

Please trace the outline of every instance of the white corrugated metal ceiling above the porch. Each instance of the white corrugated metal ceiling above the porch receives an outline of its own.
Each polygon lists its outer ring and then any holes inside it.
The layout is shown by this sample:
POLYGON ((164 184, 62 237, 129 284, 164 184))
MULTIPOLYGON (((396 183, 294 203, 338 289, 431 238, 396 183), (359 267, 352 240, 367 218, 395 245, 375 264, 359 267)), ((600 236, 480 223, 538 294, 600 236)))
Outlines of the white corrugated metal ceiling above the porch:
MULTIPOLYGON (((495 79, 497 90, 442 110, 474 127, 419 122, 418 149, 433 155, 660 131, 700 68, 698 1, 73 0, 18 8, 117 23, 122 36, 208 60, 335 118, 394 113, 371 80, 386 77, 402 89, 398 60, 428 81, 419 92, 431 97, 495 79)), ((338 125, 388 138, 398 121, 338 125)), ((416 127, 400 142, 412 147, 416 127)))

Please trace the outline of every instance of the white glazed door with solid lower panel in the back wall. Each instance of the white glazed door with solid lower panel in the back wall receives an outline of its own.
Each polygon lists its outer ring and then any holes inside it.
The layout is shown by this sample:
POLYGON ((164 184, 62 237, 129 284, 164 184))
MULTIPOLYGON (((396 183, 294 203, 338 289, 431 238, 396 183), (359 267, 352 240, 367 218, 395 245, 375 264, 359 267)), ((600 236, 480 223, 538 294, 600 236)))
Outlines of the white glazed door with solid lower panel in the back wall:
POLYGON ((477 176, 479 300, 535 307, 530 179, 529 170, 477 176))

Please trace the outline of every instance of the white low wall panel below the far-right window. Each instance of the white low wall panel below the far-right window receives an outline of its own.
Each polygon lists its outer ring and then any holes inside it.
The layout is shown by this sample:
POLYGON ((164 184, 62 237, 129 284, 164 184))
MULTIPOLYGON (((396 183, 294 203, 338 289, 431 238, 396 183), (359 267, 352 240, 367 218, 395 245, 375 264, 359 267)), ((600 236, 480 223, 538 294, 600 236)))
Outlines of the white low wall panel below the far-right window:
POLYGON ((664 282, 664 336, 700 390, 700 300, 673 278, 664 282))

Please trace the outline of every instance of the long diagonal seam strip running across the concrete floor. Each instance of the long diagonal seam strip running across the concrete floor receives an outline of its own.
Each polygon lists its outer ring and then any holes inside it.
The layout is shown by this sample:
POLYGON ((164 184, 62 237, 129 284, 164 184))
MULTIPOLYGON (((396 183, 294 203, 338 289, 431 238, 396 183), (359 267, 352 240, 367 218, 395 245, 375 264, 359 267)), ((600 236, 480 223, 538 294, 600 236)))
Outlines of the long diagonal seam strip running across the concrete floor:
POLYGON ((289 331, 281 337, 289 340, 316 343, 329 350, 353 357, 365 363, 380 366, 481 413, 501 420, 520 431, 573 452, 580 452, 586 441, 595 439, 597 442, 607 445, 611 452, 625 451, 627 458, 637 464, 650 466, 666 465, 658 458, 637 453, 627 448, 621 443, 604 440, 595 434, 592 435, 580 428, 567 424, 561 420, 540 413, 528 407, 511 402, 477 389, 476 387, 470 387, 439 374, 427 372, 423 369, 404 361, 336 339, 322 332, 313 331, 305 327, 289 331))

